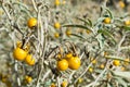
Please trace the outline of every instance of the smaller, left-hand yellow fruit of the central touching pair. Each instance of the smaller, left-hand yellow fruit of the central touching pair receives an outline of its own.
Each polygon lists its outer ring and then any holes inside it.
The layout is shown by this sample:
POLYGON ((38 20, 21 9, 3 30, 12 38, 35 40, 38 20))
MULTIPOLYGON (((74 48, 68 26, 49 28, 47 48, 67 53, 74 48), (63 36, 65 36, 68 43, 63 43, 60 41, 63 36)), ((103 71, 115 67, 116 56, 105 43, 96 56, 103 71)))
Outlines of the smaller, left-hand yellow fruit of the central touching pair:
POLYGON ((65 71, 68 69, 68 62, 65 59, 57 61, 57 69, 60 71, 65 71))

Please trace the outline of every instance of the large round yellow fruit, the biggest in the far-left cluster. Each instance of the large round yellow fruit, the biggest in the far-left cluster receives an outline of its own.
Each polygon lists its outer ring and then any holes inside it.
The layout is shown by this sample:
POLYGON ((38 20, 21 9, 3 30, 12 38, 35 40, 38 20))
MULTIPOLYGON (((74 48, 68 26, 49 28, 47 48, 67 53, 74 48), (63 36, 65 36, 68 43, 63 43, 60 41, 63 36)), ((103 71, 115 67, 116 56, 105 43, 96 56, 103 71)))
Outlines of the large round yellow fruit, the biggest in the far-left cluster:
POLYGON ((21 48, 16 48, 13 51, 13 57, 18 61, 24 61, 25 58, 27 57, 27 52, 21 48))

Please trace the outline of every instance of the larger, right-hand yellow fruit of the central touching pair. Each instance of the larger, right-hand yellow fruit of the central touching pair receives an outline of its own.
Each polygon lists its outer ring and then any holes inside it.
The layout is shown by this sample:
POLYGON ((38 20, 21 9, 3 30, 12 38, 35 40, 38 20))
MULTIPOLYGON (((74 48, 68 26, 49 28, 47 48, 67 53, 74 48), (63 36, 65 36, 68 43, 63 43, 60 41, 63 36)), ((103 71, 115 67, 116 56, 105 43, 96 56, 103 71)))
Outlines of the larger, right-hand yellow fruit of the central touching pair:
POLYGON ((78 57, 72 57, 68 60, 68 67, 72 70, 78 70, 80 67, 81 61, 78 57))

